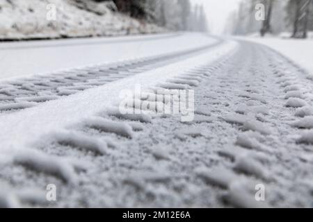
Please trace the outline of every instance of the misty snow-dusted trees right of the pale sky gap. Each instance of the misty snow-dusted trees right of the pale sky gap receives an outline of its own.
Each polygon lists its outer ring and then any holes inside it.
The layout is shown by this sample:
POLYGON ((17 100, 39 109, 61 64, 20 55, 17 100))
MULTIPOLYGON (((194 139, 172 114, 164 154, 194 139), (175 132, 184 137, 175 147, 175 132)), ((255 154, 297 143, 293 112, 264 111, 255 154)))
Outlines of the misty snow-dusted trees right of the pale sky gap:
POLYGON ((234 22, 227 26, 232 34, 289 32, 290 37, 305 38, 313 31, 313 0, 243 0, 232 17, 234 22), (255 19, 258 3, 265 6, 262 21, 255 19))

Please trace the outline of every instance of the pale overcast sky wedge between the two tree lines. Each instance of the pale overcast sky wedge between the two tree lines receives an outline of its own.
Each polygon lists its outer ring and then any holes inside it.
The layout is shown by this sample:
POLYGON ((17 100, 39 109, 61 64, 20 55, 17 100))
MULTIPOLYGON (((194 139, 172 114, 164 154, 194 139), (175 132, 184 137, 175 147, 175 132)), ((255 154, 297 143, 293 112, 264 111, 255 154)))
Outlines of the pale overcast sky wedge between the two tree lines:
POLYGON ((207 12, 209 30, 213 34, 222 34, 228 16, 237 10, 241 0, 191 0, 192 3, 202 3, 207 12))

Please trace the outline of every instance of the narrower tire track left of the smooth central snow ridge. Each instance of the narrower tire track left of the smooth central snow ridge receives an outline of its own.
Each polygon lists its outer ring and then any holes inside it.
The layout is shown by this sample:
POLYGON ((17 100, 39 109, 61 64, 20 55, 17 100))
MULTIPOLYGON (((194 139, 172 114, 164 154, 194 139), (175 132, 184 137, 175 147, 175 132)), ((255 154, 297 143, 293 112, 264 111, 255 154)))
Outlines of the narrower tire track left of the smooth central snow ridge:
POLYGON ((222 40, 218 40, 215 44, 179 53, 128 60, 111 65, 72 69, 57 74, 22 80, 6 81, 0 83, 0 112, 29 108, 36 105, 36 103, 70 96, 143 71, 164 67, 172 62, 196 56, 220 44, 223 44, 222 40))

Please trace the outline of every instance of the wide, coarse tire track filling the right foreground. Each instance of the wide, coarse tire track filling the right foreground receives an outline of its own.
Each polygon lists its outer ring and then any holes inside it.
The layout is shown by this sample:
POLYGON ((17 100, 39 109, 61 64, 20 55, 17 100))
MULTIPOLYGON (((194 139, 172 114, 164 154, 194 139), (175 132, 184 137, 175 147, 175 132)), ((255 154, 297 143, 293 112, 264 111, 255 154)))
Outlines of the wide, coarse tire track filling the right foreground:
MULTIPOLYGON (((303 123, 294 114, 312 114, 287 107, 285 99, 295 84, 307 89, 303 99, 312 105, 310 83, 257 44, 241 42, 229 56, 159 84, 195 89, 193 122, 155 110, 139 116, 103 110, 38 142, 40 153, 53 157, 50 164, 65 164, 54 167, 56 177, 45 167, 42 175, 15 166, 33 179, 13 178, 8 167, 0 178, 22 187, 53 181, 60 200, 51 206, 58 207, 310 207, 312 146, 298 144, 303 123), (296 82, 287 83, 289 77, 296 82), (259 184, 266 187, 264 202, 255 200, 259 184)), ((31 158, 20 159, 24 166, 31 158)))

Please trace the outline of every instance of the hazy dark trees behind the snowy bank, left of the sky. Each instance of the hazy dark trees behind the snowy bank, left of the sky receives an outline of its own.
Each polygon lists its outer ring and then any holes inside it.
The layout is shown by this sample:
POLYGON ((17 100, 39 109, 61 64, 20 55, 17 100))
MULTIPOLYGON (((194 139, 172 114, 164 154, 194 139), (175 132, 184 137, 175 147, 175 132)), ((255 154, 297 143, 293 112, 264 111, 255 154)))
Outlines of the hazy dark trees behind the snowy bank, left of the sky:
POLYGON ((208 31, 202 5, 190 0, 95 0, 113 1, 118 11, 136 19, 156 23, 175 31, 208 31))

